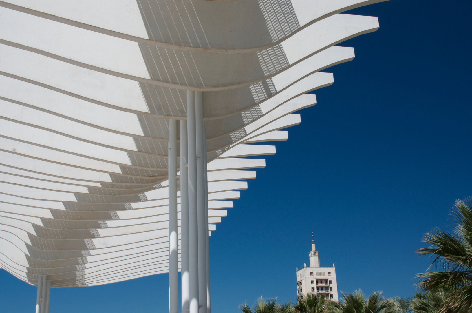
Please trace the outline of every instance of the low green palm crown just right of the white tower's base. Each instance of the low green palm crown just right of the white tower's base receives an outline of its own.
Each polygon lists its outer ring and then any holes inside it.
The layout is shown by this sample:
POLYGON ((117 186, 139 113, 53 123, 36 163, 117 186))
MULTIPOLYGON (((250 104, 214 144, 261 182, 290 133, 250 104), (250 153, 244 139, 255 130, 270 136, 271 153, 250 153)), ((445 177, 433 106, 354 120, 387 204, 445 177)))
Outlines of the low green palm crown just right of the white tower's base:
POLYGON ((327 313, 400 313, 393 300, 381 296, 380 291, 373 292, 367 298, 360 289, 354 293, 344 294, 341 302, 330 301, 325 310, 327 313))

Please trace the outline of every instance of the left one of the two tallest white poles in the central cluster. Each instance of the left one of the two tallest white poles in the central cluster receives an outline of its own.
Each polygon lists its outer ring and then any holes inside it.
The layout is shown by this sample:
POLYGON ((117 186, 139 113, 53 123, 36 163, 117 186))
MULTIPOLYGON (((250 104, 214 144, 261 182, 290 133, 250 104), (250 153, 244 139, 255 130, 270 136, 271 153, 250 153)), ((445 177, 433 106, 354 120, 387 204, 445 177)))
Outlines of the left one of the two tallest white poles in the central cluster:
POLYGON ((193 91, 187 91, 187 140, 189 311, 190 313, 198 313, 197 151, 195 138, 195 92, 193 91))

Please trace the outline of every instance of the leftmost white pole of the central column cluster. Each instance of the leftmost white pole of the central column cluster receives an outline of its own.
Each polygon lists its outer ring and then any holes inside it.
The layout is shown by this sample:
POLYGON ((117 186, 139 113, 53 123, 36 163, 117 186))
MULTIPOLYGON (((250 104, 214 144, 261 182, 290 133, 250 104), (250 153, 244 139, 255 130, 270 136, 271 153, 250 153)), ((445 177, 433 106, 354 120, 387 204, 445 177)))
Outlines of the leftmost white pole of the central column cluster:
POLYGON ((169 313, 178 313, 177 121, 169 119, 169 313))

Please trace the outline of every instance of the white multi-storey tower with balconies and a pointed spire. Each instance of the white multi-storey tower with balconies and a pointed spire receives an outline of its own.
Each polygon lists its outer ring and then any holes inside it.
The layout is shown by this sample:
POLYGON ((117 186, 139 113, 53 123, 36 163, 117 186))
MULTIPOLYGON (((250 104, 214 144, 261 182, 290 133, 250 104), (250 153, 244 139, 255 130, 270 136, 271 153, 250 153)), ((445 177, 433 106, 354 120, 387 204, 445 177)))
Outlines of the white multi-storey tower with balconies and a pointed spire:
POLYGON ((302 269, 296 269, 297 296, 303 299, 306 294, 311 293, 312 295, 323 295, 326 299, 338 301, 334 264, 320 264, 320 253, 316 251, 314 240, 312 240, 312 251, 308 255, 310 266, 307 267, 305 263, 302 269))

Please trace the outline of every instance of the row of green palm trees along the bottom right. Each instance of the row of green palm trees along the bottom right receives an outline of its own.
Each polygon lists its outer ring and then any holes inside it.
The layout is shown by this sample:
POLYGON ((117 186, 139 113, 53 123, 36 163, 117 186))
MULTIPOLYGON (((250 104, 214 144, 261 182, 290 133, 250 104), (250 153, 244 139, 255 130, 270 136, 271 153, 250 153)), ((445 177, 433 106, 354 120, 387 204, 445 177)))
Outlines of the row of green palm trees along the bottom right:
POLYGON ((418 274, 420 292, 412 298, 388 299, 379 291, 364 296, 356 290, 341 292, 339 302, 307 294, 295 305, 261 297, 252 308, 238 308, 243 313, 472 313, 472 198, 457 200, 451 215, 452 233, 435 228, 423 237, 430 246, 418 253, 429 256, 431 266, 418 274))

